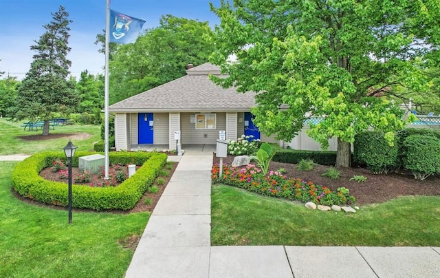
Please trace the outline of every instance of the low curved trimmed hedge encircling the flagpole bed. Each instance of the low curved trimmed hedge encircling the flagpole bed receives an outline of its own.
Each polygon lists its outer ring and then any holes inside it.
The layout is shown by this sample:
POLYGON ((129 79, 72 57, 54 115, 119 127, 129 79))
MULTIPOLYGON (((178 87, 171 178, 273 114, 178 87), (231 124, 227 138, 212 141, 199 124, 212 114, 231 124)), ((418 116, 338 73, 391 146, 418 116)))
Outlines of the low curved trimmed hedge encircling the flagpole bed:
MULTIPOLYGON (((80 156, 89 156, 92 152, 78 151, 72 158, 72 166, 78 166, 80 156)), ((20 195, 45 204, 67 206, 67 184, 52 182, 41 178, 39 172, 50 167, 55 158, 65 159, 61 152, 38 153, 19 162, 12 172, 12 188, 20 195)), ((72 184, 72 206, 90 208, 96 211, 120 209, 129 210, 135 206, 148 186, 153 184, 157 173, 166 163, 164 153, 112 152, 109 153, 113 164, 142 165, 131 178, 119 186, 103 188, 72 184)))

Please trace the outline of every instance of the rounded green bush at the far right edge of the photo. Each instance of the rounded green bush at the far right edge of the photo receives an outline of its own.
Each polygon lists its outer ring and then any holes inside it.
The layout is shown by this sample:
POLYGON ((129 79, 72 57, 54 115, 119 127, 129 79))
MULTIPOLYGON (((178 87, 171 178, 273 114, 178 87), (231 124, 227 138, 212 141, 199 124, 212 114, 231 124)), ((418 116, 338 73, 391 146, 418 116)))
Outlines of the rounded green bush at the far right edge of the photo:
POLYGON ((424 180, 440 173, 440 140, 432 136, 411 135, 404 140, 404 167, 424 180))

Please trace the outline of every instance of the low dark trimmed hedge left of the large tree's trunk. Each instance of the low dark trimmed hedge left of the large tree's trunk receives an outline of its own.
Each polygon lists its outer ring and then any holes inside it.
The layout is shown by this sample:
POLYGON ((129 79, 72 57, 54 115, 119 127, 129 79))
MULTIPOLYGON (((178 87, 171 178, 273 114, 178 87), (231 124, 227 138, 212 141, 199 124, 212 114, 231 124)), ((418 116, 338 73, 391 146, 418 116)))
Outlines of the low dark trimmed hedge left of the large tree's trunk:
POLYGON ((299 151, 281 149, 277 151, 272 161, 298 164, 301 160, 313 160, 316 164, 335 165, 336 151, 299 151))

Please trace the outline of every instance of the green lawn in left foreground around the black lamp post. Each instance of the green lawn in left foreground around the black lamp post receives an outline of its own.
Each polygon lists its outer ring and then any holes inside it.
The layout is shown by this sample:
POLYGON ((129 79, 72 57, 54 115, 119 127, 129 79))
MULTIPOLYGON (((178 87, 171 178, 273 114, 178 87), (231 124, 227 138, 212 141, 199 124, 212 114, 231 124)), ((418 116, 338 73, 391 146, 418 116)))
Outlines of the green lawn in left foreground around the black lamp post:
POLYGON ((0 277, 123 277, 149 213, 94 213, 27 204, 10 191, 16 162, 0 162, 0 277))

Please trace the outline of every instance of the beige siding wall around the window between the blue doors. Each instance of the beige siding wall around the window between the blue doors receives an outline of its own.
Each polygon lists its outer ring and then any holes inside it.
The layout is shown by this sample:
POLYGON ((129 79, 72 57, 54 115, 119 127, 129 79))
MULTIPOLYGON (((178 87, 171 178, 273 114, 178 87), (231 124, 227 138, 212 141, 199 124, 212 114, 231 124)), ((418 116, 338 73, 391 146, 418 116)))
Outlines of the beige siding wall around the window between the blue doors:
MULTIPOLYGON (((209 113, 209 112, 207 112, 209 113)), ((181 145, 191 144, 217 144, 219 131, 226 130, 226 114, 217 114, 216 129, 195 129, 195 122, 190 122, 190 116, 196 113, 181 114, 181 145)))

